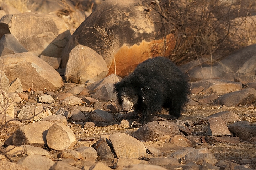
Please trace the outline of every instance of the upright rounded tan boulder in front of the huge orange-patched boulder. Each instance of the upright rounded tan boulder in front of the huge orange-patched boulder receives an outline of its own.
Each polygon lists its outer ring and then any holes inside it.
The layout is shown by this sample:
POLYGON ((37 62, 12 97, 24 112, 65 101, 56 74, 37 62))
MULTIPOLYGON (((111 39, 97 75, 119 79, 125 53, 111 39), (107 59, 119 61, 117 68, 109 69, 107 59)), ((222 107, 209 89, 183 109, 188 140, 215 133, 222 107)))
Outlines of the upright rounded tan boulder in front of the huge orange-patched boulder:
POLYGON ((106 77, 107 73, 106 62, 93 49, 77 45, 69 53, 65 71, 67 82, 85 83, 87 80, 98 81, 106 77))

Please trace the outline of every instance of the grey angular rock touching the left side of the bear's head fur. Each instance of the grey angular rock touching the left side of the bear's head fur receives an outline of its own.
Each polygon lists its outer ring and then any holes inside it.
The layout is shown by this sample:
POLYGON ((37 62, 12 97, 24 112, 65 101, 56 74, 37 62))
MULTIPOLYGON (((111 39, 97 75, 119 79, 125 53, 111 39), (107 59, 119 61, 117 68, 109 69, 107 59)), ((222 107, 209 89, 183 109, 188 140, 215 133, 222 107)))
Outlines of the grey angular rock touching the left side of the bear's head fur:
POLYGON ((114 101, 116 100, 117 96, 115 93, 113 93, 113 89, 113 84, 105 84, 92 95, 92 98, 114 101))

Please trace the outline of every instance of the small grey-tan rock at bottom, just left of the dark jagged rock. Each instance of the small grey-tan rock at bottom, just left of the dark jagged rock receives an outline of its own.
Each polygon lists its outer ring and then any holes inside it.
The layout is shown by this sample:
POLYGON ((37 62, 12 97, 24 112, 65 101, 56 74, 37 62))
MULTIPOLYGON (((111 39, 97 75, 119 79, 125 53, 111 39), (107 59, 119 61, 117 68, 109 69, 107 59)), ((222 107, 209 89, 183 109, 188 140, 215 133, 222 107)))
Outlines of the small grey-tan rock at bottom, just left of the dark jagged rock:
POLYGON ((82 146, 75 150, 81 153, 85 160, 94 162, 97 158, 97 151, 92 147, 82 146))

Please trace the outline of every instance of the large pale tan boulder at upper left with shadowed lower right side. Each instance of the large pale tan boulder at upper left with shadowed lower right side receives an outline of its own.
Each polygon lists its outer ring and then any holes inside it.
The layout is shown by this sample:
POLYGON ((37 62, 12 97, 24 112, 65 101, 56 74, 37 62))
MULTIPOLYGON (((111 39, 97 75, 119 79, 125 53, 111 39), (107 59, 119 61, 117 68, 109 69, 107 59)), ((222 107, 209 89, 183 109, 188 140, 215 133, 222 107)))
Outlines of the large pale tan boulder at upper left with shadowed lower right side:
POLYGON ((34 55, 60 58, 70 38, 66 23, 54 15, 14 14, 0 20, 0 38, 11 33, 34 55))

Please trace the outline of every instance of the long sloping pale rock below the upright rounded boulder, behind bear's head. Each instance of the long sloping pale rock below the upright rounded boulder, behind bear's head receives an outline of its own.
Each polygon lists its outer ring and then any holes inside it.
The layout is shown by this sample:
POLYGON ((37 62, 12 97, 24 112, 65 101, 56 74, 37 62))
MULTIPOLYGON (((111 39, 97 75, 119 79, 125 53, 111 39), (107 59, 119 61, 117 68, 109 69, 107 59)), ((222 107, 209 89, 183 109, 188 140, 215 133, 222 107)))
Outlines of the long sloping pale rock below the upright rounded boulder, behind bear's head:
POLYGON ((116 83, 118 82, 119 79, 116 75, 114 74, 111 74, 99 81, 96 81, 92 84, 90 84, 89 86, 86 87, 86 89, 88 89, 89 91, 97 91, 98 89, 100 89, 101 87, 103 87, 104 85, 106 84, 113 84, 113 83, 116 83))

